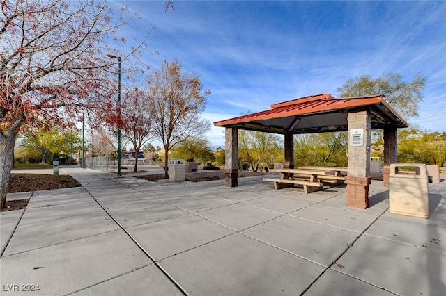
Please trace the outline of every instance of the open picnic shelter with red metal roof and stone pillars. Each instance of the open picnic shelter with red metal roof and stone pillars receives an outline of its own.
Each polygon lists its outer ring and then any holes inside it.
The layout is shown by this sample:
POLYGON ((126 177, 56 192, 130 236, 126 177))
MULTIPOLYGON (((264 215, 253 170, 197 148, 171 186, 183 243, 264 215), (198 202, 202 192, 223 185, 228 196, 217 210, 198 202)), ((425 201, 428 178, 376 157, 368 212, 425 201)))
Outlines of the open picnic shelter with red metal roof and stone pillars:
MULTIPOLYGON (((238 186, 238 129, 284 135, 286 168, 294 168, 293 135, 348 131, 347 206, 369 206, 371 130, 384 130, 384 165, 397 163, 397 129, 406 120, 384 95, 335 98, 331 94, 272 104, 270 110, 214 122, 225 128, 225 186, 238 186)), ((388 170, 384 171, 388 174, 388 170)))

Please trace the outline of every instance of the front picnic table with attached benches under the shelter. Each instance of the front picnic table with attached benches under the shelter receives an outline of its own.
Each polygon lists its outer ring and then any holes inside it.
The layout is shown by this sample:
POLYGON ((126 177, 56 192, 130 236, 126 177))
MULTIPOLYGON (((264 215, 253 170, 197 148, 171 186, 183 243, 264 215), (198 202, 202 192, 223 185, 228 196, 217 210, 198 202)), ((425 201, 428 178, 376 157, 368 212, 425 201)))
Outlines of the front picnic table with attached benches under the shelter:
POLYGON ((279 178, 264 178, 263 181, 274 183, 275 189, 292 187, 295 184, 302 185, 304 193, 311 193, 323 188, 323 181, 338 180, 342 176, 335 176, 334 170, 309 170, 309 169, 271 169, 270 172, 280 173, 279 178))

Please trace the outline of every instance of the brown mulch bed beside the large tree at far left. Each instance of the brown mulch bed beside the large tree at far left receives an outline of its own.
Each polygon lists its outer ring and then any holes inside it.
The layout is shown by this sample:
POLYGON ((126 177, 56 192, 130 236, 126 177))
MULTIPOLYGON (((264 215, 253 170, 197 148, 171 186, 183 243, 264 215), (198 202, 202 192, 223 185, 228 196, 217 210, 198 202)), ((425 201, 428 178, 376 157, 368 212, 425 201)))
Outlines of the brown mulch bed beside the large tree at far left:
POLYGON ((8 193, 79 187, 72 176, 52 174, 11 174, 8 193))

